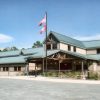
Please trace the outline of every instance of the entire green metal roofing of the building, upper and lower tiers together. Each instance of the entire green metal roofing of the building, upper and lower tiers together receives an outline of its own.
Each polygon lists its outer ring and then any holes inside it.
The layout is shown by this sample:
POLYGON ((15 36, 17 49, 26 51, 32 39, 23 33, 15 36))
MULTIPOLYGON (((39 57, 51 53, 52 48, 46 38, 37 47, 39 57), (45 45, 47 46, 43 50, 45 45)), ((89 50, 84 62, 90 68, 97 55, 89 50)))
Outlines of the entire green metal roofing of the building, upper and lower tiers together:
MULTIPOLYGON (((49 34, 53 34, 54 37, 61 43, 70 44, 73 46, 77 46, 84 49, 92 49, 92 48, 99 48, 100 47, 100 40, 93 40, 93 41, 79 41, 67 37, 65 35, 50 32, 49 34)), ((79 57, 81 59, 90 59, 90 60, 97 60, 100 61, 100 55, 83 55, 76 52, 64 51, 64 50, 48 50, 47 56, 55 54, 57 52, 64 52, 66 54, 79 57)), ((40 48, 30 48, 25 50, 16 50, 16 51, 7 51, 7 52, 0 52, 0 64, 11 64, 11 63, 25 63, 28 58, 44 58, 46 57, 44 47, 40 48)))

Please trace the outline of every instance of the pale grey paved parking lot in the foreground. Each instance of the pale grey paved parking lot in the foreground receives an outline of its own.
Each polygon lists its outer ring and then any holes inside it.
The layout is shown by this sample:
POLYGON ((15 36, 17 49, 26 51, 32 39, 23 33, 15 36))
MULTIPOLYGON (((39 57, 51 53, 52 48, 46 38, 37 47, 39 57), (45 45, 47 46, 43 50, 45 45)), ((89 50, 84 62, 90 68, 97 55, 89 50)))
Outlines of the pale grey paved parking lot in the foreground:
POLYGON ((100 100, 100 85, 0 79, 0 100, 100 100))

